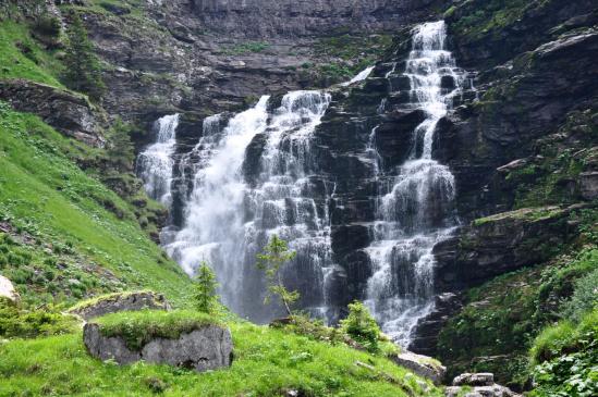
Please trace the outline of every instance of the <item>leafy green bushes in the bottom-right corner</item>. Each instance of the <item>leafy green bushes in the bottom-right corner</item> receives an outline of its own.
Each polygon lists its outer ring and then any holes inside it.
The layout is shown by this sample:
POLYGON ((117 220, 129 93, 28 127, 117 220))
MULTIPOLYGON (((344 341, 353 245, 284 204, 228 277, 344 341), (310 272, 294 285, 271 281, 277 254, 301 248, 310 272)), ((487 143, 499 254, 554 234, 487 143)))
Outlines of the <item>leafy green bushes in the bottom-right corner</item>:
POLYGON ((578 325, 569 321, 546 328, 530 350, 534 397, 590 397, 598 394, 598 309, 578 325))

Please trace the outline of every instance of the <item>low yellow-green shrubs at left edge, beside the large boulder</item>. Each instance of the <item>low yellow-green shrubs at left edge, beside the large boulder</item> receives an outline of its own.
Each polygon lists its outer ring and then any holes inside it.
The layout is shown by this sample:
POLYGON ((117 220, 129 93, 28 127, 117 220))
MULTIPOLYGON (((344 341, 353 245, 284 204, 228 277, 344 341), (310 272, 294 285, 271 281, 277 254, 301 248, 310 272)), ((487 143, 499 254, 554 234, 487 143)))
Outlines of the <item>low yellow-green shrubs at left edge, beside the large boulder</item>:
POLYGON ((77 321, 59 312, 24 310, 4 297, 0 297, 0 337, 33 338, 75 332, 77 321))

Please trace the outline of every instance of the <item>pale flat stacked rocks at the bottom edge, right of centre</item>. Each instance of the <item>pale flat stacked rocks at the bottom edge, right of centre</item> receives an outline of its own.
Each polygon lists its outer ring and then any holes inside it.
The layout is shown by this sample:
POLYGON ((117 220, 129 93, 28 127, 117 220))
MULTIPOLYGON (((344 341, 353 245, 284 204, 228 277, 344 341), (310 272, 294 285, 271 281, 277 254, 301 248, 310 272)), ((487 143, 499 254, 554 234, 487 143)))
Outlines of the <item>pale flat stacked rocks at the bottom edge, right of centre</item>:
POLYGON ((447 397, 517 397, 518 394, 495 383, 489 372, 464 373, 453 380, 453 385, 444 389, 447 397))

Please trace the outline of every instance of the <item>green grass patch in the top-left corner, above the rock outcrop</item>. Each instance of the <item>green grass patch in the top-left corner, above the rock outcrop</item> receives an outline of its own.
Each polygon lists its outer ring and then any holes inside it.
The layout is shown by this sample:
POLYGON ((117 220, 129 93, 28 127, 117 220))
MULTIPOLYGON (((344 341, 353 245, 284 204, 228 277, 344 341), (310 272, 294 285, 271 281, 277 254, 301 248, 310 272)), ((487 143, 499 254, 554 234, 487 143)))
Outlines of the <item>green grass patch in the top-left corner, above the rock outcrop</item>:
POLYGON ((62 66, 29 36, 25 24, 0 22, 0 79, 26 78, 62 87, 58 75, 62 66))

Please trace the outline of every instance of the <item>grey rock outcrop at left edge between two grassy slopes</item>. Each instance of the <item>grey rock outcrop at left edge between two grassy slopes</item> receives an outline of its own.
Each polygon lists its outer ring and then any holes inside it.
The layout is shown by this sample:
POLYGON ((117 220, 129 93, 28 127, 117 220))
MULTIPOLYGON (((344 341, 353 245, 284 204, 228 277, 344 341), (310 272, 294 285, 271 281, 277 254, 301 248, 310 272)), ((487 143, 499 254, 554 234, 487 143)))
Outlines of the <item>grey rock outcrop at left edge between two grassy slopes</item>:
POLYGON ((102 119, 86 98, 24 79, 0 80, 0 99, 20 112, 34 113, 62 134, 89 146, 103 147, 102 119))

